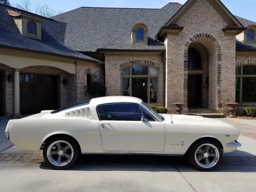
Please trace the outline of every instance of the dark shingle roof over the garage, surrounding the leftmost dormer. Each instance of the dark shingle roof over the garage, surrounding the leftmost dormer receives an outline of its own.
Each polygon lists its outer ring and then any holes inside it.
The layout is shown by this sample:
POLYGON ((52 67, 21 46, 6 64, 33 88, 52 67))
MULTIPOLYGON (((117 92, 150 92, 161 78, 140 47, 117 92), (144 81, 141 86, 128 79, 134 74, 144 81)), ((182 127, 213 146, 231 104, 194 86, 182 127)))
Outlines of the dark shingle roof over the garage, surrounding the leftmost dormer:
POLYGON ((66 23, 44 18, 44 22, 42 22, 42 40, 28 38, 20 34, 14 19, 8 14, 6 8, 18 12, 21 11, 10 6, 0 4, 0 47, 17 48, 28 51, 31 50, 33 52, 42 52, 46 54, 77 58, 80 60, 100 62, 64 46, 66 23))

